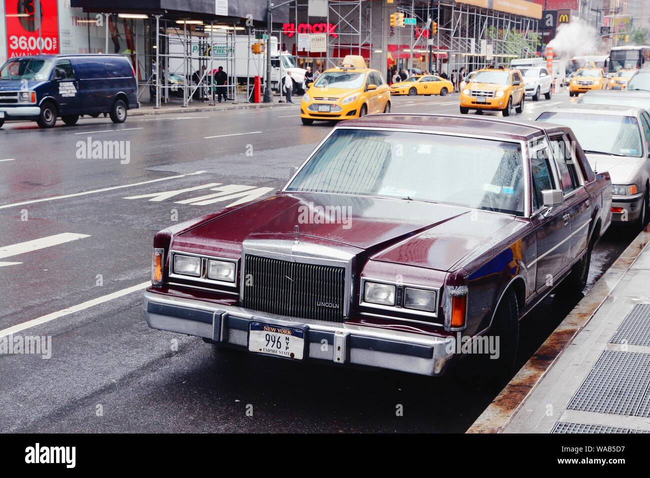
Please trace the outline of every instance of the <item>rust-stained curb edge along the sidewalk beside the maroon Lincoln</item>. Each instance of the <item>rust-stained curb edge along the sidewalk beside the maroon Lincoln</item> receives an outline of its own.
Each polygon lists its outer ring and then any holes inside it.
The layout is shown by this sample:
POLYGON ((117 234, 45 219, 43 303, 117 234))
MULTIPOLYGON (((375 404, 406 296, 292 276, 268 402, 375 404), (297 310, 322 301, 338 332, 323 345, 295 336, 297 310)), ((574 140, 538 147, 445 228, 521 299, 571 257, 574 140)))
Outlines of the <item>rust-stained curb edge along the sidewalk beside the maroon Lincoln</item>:
POLYGON ((591 317, 599 310, 649 243, 650 226, 646 226, 465 433, 500 433, 504 431, 528 395, 536 388, 575 336, 589 323, 591 317))

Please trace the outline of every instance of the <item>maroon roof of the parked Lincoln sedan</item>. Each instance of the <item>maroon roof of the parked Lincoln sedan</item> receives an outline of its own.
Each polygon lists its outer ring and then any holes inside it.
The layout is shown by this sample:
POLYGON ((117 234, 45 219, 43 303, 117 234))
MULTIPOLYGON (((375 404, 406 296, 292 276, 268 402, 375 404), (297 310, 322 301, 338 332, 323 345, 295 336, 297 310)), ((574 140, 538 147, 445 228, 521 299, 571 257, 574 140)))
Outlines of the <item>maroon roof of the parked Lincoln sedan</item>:
POLYGON ((534 121, 506 121, 481 116, 459 114, 369 114, 339 123, 340 127, 415 129, 422 132, 460 133, 469 136, 507 137, 528 140, 563 126, 541 124, 534 121))

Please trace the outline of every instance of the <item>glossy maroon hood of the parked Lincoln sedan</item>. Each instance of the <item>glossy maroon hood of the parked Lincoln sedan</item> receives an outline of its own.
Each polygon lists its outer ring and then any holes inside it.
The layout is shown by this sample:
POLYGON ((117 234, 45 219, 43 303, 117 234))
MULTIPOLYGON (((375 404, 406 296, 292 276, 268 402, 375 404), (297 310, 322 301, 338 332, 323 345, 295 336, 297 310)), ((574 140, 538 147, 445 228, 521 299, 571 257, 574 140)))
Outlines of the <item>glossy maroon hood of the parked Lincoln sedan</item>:
POLYGON ((239 258, 245 239, 297 237, 301 243, 348 248, 368 259, 448 271, 512 222, 509 215, 442 204, 283 193, 203 222, 174 237, 172 248, 239 258))

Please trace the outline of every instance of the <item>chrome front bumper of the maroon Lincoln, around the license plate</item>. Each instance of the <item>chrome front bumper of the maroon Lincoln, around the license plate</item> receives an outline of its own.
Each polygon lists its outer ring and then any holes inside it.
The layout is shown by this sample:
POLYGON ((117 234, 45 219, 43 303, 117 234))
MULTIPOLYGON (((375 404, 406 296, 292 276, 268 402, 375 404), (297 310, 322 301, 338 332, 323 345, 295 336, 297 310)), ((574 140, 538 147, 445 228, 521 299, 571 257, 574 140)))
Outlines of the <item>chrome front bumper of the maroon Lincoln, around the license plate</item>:
MULTIPOLYGON (((211 339, 248 352, 252 320, 305 329, 306 360, 442 375, 454 354, 454 338, 368 326, 334 324, 270 315, 147 290, 144 315, 149 327, 211 339)), ((253 353, 253 352, 248 352, 253 353)), ((291 359, 282 359, 291 360, 291 359)))

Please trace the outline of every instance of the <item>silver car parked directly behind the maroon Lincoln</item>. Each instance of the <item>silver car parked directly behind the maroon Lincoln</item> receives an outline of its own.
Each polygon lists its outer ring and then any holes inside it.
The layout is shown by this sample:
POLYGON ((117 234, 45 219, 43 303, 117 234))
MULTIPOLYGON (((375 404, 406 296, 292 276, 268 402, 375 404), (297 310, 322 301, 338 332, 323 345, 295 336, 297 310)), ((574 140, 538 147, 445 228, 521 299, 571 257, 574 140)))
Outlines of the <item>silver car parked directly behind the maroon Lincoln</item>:
POLYGON ((612 220, 645 225, 650 215, 650 115, 645 109, 559 105, 541 113, 537 120, 570 127, 591 168, 609 171, 612 220))

